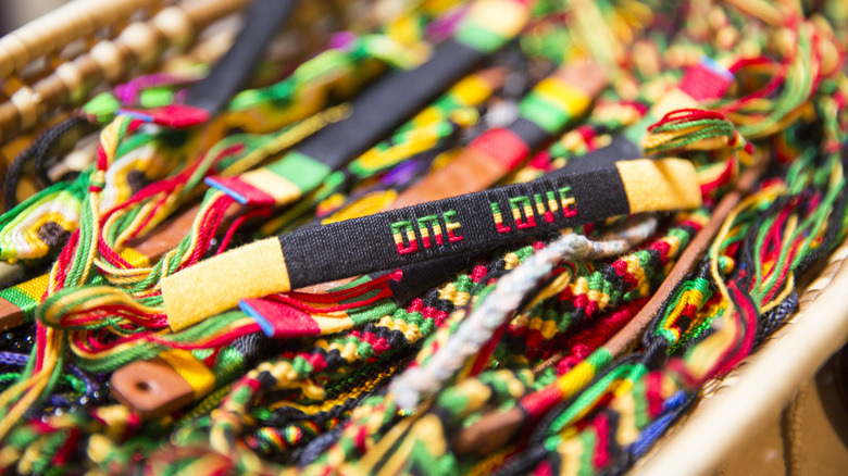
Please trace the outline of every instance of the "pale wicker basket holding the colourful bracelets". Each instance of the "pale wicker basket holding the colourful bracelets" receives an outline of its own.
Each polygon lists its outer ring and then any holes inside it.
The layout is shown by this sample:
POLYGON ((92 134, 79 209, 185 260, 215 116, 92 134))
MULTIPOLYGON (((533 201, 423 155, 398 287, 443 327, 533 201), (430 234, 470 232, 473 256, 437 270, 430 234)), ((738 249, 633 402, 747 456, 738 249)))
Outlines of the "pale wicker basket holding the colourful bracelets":
MULTIPOLYGON (((235 28, 219 29, 200 45, 197 40, 210 25, 248 3, 75 0, 0 38, 3 161, 8 164, 20 150, 17 142, 32 138, 26 134, 109 85, 161 67, 166 52, 214 60, 226 51, 235 28), (192 46, 195 50, 189 51, 192 46)), ((799 390, 806 394, 803 389, 809 388, 816 369, 848 340, 847 258, 848 241, 807 288, 800 311, 789 323, 738 369, 712 383, 699 406, 672 428, 632 474, 711 474, 726 465, 739 448, 747 448, 747 440, 768 433, 799 390)))

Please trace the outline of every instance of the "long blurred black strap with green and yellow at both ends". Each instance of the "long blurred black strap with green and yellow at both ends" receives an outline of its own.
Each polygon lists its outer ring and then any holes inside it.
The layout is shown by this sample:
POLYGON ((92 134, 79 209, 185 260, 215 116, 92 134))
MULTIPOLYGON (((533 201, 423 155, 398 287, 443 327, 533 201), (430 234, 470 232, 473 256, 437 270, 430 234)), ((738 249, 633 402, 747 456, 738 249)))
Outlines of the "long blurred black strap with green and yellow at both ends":
POLYGON ((353 112, 271 165, 237 178, 207 183, 239 203, 282 205, 320 186, 333 172, 413 116, 486 55, 517 35, 529 15, 521 0, 479 0, 472 4, 454 37, 417 68, 377 80, 351 102, 353 112))

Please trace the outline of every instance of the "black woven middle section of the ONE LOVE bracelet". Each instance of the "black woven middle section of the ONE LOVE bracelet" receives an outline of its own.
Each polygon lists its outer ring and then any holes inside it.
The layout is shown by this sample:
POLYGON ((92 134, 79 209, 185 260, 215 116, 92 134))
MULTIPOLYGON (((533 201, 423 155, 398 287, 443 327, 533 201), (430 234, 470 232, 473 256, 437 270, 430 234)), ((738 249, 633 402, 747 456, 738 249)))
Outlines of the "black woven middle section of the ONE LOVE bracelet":
POLYGON ((279 241, 291 286, 298 288, 491 250, 626 213, 628 198, 612 164, 297 230, 280 236, 279 241), (553 208, 549 200, 553 200, 553 208), (496 224, 492 203, 500 211, 501 226, 496 224), (527 205, 531 216, 525 215, 527 205), (549 214, 539 213, 539 205, 549 214), (513 208, 520 214, 517 221, 513 208), (449 233, 451 227, 456 228, 449 233), (427 238, 421 229, 426 230, 427 238), (408 239, 410 230, 413 240, 408 239), (395 240, 398 233, 400 243, 395 240))

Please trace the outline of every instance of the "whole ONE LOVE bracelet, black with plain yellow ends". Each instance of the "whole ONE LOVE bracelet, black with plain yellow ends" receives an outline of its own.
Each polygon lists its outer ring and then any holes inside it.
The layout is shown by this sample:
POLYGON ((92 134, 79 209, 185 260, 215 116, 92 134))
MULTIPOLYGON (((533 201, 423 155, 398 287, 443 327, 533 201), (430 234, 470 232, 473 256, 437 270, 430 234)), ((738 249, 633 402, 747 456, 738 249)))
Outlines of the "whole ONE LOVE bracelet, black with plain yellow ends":
POLYGON ((697 184, 688 161, 628 161, 299 230, 166 277, 165 313, 176 330, 241 299, 490 250, 609 216, 694 208, 697 184), (354 237, 360 242, 351 246, 354 237))

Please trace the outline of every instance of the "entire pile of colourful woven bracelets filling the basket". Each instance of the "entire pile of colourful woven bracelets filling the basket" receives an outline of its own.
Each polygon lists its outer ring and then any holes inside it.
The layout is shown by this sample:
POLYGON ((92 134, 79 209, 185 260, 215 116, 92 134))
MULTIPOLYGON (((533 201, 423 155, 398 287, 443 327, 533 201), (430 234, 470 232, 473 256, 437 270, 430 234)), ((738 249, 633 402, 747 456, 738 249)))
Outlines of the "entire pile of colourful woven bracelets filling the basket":
POLYGON ((2 138, 0 472, 626 473, 846 238, 847 48, 840 0, 249 2, 2 138))

